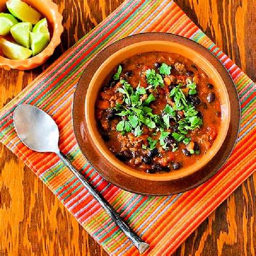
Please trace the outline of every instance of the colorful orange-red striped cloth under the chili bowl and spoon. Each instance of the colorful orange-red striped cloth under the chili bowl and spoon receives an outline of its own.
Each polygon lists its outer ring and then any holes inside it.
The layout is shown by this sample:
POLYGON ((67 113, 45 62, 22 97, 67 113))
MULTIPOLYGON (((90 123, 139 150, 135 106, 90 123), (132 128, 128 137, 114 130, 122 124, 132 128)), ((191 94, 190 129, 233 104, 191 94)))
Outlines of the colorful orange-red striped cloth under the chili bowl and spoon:
POLYGON ((148 255, 170 255, 188 235, 255 170, 255 84, 169 0, 129 0, 89 32, 0 112, 0 139, 56 194, 79 223, 112 255, 138 252, 102 207, 52 153, 36 153, 18 139, 12 113, 21 103, 36 105, 56 120, 60 149, 113 205, 123 219, 149 242, 148 255), (225 166, 203 185, 169 197, 139 196, 113 186, 86 162, 71 124, 76 83, 97 52, 134 33, 161 31, 191 38, 210 49, 230 72, 239 92, 242 122, 237 145, 225 166))

